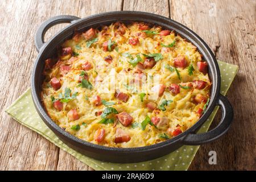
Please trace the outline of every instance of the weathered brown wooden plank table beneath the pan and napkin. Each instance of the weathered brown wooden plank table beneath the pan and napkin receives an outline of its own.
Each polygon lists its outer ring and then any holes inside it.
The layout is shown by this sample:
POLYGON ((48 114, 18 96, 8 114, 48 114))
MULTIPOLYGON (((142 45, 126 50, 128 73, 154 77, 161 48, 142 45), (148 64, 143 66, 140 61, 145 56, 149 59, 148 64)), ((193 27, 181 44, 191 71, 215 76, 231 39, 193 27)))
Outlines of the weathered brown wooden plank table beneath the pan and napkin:
MULTIPOLYGON (((47 139, 14 121, 3 110, 30 86, 38 54, 34 34, 46 19, 62 14, 84 18, 105 11, 147 11, 172 18, 191 28, 208 43, 217 59, 238 65, 229 89, 234 122, 221 139, 200 147, 190 170, 256 169, 256 1, 246 0, 102 0, 15 1, 0 4, 0 169, 92 170, 47 139), (217 165, 208 164, 208 152, 217 152, 217 165), (42 157, 46 161, 42 162, 42 157)), ((48 40, 65 24, 47 32, 48 40)), ((212 127, 220 121, 220 113, 212 127)))

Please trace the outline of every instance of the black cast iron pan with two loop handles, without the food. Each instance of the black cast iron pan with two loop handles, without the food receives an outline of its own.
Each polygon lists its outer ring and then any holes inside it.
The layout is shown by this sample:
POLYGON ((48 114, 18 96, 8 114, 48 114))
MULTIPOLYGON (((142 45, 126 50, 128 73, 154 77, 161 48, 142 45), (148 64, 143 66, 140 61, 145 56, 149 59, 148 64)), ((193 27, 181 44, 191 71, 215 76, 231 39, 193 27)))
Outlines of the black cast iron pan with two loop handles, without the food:
POLYGON ((207 44, 189 28, 183 26, 180 23, 175 22, 172 19, 165 18, 160 15, 138 12, 138 11, 113 11, 108 13, 102 13, 97 15, 88 16, 87 18, 80 19, 76 16, 60 15, 55 16, 46 20, 36 32, 35 35, 35 45, 39 52, 36 57, 34 68, 32 71, 31 88, 32 88, 32 98, 36 110, 38 111, 40 117, 46 123, 46 125, 69 147, 81 152, 86 156, 92 157, 94 159, 104 160, 108 162, 117 163, 134 163, 142 162, 144 160, 151 160, 158 158, 163 155, 167 155, 170 152, 176 150, 177 148, 187 145, 199 145, 203 143, 211 142, 217 138, 220 138, 223 134, 228 131, 232 119, 233 119, 233 109, 226 97, 220 94, 220 70, 218 68, 217 61, 207 46, 207 44), (60 46, 64 40, 72 38, 73 32, 85 31, 90 27, 99 27, 104 24, 110 24, 113 22, 121 21, 123 23, 131 22, 147 22, 152 24, 158 24, 166 29, 174 30, 177 34, 187 39, 188 42, 194 44, 203 59, 208 63, 208 74, 210 80, 212 81, 212 89, 210 92, 210 103, 204 115, 199 119, 199 121, 193 125, 184 133, 178 135, 175 138, 168 139, 165 142, 154 144, 146 147, 134 147, 134 148, 113 148, 105 147, 97 144, 89 143, 75 136, 67 133, 55 122, 49 118, 46 110, 42 104, 40 98, 41 85, 43 82, 43 69, 44 60, 52 57, 56 52, 56 47, 60 46), (59 23, 70 23, 69 26, 65 27, 63 30, 58 32, 51 40, 44 42, 44 34, 48 28, 59 23), (212 113, 214 107, 219 105, 222 110, 222 118, 217 127, 207 133, 196 134, 196 131, 212 113))

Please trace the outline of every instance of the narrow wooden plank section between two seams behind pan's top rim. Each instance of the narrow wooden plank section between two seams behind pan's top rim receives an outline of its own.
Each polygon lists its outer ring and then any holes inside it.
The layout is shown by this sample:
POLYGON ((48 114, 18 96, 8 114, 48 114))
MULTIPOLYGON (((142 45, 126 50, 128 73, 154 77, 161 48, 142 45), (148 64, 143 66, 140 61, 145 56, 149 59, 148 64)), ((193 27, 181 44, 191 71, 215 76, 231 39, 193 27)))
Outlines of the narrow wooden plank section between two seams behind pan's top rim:
POLYGON ((124 1, 123 10, 145 11, 170 17, 168 0, 129 0, 124 1))

